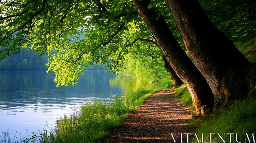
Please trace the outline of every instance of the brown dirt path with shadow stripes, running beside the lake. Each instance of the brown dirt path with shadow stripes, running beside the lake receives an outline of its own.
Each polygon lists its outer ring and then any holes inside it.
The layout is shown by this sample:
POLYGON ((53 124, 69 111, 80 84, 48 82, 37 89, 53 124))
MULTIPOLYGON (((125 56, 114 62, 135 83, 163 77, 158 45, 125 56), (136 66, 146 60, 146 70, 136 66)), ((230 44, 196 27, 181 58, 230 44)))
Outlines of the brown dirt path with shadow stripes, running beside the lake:
MULTIPOLYGON (((115 129, 104 143, 168 143, 173 142, 170 133, 187 132, 192 109, 180 104, 172 93, 163 90, 144 100, 138 110, 129 114, 123 126, 115 129)), ((176 135, 175 135, 176 137, 176 135)), ((179 141, 180 142, 180 141, 179 141)))

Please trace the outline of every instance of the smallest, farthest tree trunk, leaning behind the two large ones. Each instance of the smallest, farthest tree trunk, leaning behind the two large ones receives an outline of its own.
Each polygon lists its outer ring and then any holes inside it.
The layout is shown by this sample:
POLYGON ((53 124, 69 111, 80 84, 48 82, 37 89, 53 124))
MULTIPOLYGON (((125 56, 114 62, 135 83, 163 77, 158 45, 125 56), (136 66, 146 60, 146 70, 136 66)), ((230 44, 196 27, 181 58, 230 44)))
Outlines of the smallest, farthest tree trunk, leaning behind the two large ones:
POLYGON ((166 58, 163 55, 164 60, 164 68, 167 72, 170 74, 170 78, 173 81, 173 86, 171 90, 174 90, 176 87, 180 86, 182 84, 182 81, 180 78, 176 75, 175 71, 173 70, 172 66, 169 64, 169 62, 166 60, 166 58))

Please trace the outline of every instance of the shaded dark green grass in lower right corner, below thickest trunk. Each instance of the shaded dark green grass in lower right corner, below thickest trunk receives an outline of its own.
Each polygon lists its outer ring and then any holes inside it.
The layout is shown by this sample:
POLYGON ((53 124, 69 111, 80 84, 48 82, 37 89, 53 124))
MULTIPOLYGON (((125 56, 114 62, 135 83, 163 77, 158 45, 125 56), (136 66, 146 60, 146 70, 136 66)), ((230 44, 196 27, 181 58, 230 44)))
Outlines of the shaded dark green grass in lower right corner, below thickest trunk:
MULTIPOLYGON (((237 101, 229 108, 220 110, 218 115, 193 118, 191 120, 191 126, 197 128, 195 130, 197 134, 205 133, 204 138, 208 140, 208 133, 219 133, 222 136, 223 133, 238 133, 238 141, 241 142, 243 137, 242 133, 248 133, 249 137, 251 137, 252 133, 255 133, 255 109, 256 100, 254 98, 237 101)), ((232 137, 232 139, 234 140, 231 142, 236 142, 234 137, 232 137)), ((215 140, 212 139, 212 141, 214 142, 215 140)), ((229 136, 226 136, 225 142, 229 142, 229 136)))

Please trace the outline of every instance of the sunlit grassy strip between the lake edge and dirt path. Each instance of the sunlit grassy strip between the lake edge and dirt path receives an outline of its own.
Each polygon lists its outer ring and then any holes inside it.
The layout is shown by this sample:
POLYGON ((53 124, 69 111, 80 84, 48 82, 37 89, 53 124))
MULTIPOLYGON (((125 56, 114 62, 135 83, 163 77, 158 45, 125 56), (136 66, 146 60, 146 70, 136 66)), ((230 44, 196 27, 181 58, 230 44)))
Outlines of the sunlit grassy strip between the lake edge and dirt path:
POLYGON ((44 129, 30 138, 12 139, 5 132, 0 143, 91 143, 103 138, 111 129, 122 125, 128 113, 143 104, 143 100, 157 90, 172 87, 170 79, 161 80, 157 86, 137 87, 127 95, 116 95, 108 102, 95 101, 81 109, 71 109, 69 117, 57 121, 56 129, 44 129))

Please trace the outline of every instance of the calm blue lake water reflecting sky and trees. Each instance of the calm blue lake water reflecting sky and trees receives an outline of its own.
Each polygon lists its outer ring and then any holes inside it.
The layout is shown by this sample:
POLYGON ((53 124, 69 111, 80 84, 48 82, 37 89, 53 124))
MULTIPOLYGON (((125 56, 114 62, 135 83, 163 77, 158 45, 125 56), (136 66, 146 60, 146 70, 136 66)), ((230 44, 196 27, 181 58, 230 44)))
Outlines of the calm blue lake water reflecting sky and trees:
POLYGON ((136 79, 85 71, 79 84, 56 87, 53 72, 0 72, 0 132, 14 134, 42 130, 67 115, 71 106, 94 100, 108 100, 109 94, 129 92, 136 79))

